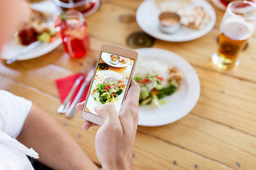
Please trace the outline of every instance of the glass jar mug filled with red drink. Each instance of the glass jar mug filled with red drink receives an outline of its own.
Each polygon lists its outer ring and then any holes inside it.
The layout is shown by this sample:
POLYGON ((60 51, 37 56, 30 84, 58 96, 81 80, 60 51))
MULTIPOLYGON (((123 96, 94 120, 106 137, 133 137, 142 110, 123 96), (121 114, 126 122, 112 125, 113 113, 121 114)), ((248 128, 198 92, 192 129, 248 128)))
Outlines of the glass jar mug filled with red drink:
POLYGON ((61 33, 63 47, 71 57, 80 58, 90 50, 86 21, 81 12, 68 10, 56 21, 56 31, 61 33))

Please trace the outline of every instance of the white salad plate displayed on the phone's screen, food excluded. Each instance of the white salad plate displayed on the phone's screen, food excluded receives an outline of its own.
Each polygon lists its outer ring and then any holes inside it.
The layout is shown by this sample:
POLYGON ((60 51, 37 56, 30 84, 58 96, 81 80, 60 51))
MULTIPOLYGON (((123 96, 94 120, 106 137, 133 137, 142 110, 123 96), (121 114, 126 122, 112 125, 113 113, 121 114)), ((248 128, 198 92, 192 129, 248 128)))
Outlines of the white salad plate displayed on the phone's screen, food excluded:
MULTIPOLYGON (((102 70, 102 71, 98 71, 98 72, 101 73, 102 75, 104 75, 105 78, 114 77, 116 79, 126 80, 126 78, 123 75, 121 75, 120 73, 115 72, 115 71, 102 70)), ((127 86, 127 84, 126 84, 126 86, 127 86)), ((98 96, 99 96, 99 93, 97 92, 97 90, 94 91, 91 95, 89 95, 89 98, 88 98, 87 104, 86 104, 87 109, 90 110, 92 112, 92 114, 96 114, 96 115, 97 115, 97 113, 94 111, 94 108, 96 106, 102 106, 102 104, 100 103, 99 100, 94 100, 95 97, 96 97, 96 99, 98 99, 98 96)), ((116 101, 116 103, 114 103, 117 112, 119 112, 119 110, 121 108, 123 96, 124 96, 124 91, 121 95, 118 95, 118 97, 117 97, 118 100, 116 101)))

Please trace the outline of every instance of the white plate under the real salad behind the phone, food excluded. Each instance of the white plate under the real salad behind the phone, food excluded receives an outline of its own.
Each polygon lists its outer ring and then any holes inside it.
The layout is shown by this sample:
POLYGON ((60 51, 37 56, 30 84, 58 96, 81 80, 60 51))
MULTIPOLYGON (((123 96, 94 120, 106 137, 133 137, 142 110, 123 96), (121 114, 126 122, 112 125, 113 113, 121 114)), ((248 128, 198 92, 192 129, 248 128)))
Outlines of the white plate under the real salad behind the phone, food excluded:
POLYGON ((184 75, 180 90, 164 98, 167 103, 159 108, 149 105, 139 107, 138 125, 166 125, 187 115, 194 108, 200 96, 200 81, 194 68, 184 58, 168 50, 142 48, 135 51, 138 52, 140 60, 143 60, 145 64, 148 64, 157 56, 153 62, 174 65, 184 75))

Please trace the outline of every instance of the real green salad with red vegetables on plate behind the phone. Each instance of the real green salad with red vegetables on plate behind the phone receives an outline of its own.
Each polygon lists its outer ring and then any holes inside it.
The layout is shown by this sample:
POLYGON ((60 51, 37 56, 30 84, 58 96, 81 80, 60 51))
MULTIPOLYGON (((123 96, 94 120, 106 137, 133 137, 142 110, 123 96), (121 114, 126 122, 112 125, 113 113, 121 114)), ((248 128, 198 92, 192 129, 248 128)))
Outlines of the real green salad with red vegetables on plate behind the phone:
POLYGON ((164 97, 173 94, 183 80, 183 74, 174 66, 155 62, 147 66, 141 60, 137 62, 134 75, 140 85, 139 105, 154 107, 166 103, 164 97))

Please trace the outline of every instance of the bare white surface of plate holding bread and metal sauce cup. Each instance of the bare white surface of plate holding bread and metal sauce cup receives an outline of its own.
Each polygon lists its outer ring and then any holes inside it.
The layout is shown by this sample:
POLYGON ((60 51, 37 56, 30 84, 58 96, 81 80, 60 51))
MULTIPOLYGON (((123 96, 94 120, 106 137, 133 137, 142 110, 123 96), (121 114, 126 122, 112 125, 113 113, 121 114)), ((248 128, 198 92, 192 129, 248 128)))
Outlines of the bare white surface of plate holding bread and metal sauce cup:
POLYGON ((147 34, 165 41, 182 42, 195 40, 207 34, 215 25, 216 13, 209 2, 205 0, 192 0, 196 5, 200 5, 207 15, 210 16, 210 21, 202 30, 194 30, 181 26, 175 34, 165 34, 159 30, 159 15, 160 10, 154 0, 144 0, 138 7, 136 20, 140 28, 147 34))

